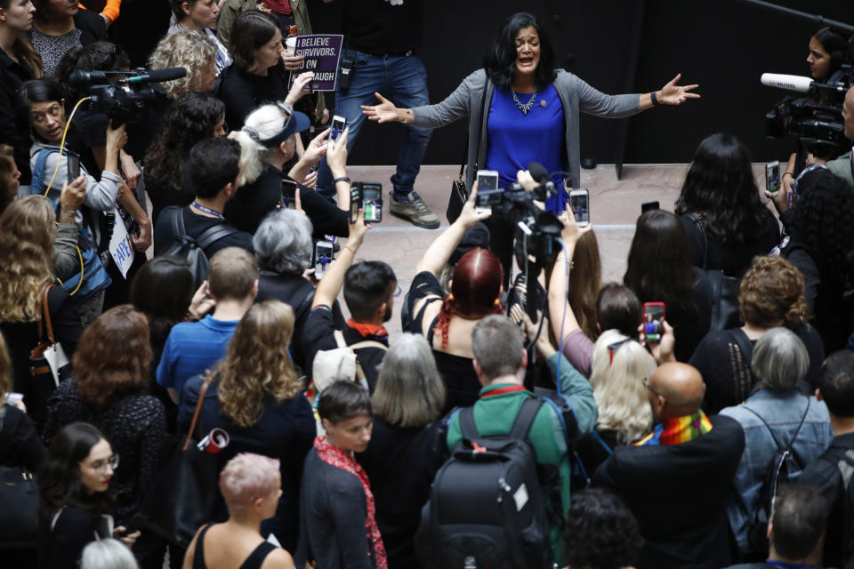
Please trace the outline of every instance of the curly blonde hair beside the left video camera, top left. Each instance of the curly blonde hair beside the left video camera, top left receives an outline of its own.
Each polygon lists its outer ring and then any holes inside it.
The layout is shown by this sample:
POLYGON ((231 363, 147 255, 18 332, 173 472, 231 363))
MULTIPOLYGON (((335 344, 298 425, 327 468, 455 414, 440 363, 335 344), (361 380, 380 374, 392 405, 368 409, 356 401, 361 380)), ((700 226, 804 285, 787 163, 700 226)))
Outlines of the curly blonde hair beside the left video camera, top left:
POLYGON ((205 67, 216 65, 216 44, 205 32, 183 29, 164 37, 149 59, 152 69, 186 68, 187 75, 162 83, 169 99, 176 100, 185 92, 198 91, 205 67))

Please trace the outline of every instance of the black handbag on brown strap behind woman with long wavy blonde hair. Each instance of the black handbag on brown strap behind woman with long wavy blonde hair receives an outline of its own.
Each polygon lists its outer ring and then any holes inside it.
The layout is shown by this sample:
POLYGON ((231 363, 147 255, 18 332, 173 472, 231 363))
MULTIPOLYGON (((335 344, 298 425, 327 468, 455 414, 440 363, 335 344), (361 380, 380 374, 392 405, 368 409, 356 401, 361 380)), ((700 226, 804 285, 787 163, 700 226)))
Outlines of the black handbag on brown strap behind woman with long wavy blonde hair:
POLYGON ((216 454, 199 450, 193 439, 210 379, 202 383, 187 439, 177 448, 149 488, 137 517, 146 529, 187 549, 199 527, 210 522, 219 495, 216 454))

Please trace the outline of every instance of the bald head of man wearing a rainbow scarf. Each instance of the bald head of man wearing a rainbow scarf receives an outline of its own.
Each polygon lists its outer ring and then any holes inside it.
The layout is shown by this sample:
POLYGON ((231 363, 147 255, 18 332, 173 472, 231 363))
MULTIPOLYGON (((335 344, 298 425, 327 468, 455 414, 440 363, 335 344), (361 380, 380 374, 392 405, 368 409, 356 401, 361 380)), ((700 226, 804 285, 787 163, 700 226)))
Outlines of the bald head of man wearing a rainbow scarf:
POLYGON ((660 365, 649 378, 649 388, 656 421, 697 413, 705 396, 703 377, 688 364, 660 365))

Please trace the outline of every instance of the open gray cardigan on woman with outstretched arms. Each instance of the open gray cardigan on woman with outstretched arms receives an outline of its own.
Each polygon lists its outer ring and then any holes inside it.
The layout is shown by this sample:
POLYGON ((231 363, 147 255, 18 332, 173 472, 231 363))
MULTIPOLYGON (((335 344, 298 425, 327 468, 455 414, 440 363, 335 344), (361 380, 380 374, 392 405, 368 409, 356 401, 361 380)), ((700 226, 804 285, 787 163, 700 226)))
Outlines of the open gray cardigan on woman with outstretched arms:
MULTIPOLYGON (((563 69, 558 69, 558 76, 552 82, 563 105, 563 116, 566 119, 567 156, 565 170, 569 172, 567 183, 570 188, 578 188, 581 183, 579 162, 581 154, 578 141, 578 111, 595 116, 622 118, 641 112, 641 95, 606 95, 592 88, 582 79, 563 69)), ((483 89, 486 86, 487 98, 492 100, 495 84, 487 80, 487 72, 478 69, 467 76, 463 83, 455 89, 446 100, 437 105, 427 105, 413 108, 415 115, 414 126, 437 128, 451 124, 455 120, 470 116, 469 120, 469 155, 465 172, 465 187, 471 188, 474 181, 477 164, 486 164, 487 160, 487 114, 489 104, 482 108, 483 89)))

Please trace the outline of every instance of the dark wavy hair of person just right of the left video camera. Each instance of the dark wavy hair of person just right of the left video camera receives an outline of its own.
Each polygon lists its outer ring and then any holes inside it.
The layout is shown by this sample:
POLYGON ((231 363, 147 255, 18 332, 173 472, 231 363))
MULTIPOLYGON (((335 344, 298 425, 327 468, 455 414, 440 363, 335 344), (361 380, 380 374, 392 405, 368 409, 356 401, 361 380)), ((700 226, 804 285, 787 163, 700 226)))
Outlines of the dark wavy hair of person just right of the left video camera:
POLYGON ((212 138, 214 126, 225 115, 225 103, 200 91, 176 100, 145 155, 145 177, 162 188, 181 187, 181 163, 199 140, 212 138))

